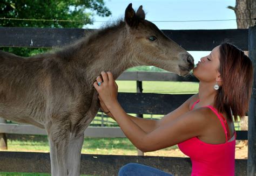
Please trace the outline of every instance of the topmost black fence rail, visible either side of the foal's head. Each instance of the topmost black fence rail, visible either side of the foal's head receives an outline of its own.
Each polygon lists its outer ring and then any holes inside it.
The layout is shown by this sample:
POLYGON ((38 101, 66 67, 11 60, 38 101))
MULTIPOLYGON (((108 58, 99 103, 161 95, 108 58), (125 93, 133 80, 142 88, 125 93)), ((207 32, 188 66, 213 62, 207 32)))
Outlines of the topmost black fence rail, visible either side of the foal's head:
MULTIPOLYGON (((86 29, 0 27, 0 46, 51 48, 70 44, 90 31, 86 29)), ((162 31, 187 51, 211 51, 226 39, 242 50, 248 51, 248 29, 162 31)))

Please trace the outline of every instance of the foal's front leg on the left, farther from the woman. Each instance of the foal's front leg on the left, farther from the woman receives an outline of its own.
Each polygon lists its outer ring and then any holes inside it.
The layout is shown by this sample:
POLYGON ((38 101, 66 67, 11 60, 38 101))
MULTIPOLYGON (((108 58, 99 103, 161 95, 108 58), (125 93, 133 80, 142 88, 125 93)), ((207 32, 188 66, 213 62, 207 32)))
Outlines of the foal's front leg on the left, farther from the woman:
POLYGON ((70 139, 69 123, 51 123, 45 128, 48 132, 51 157, 51 174, 53 176, 69 175, 68 147, 70 139))

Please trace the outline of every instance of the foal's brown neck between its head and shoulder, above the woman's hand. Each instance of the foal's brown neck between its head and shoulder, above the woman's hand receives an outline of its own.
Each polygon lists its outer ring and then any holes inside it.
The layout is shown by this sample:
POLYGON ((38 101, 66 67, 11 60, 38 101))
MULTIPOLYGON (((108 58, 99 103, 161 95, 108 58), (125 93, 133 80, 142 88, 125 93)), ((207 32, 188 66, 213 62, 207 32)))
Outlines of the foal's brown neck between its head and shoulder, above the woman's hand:
POLYGON ((77 61, 85 69, 86 80, 91 83, 102 71, 113 73, 114 79, 131 67, 129 47, 126 45, 126 31, 119 29, 110 32, 106 37, 89 41, 81 47, 80 60, 77 61))

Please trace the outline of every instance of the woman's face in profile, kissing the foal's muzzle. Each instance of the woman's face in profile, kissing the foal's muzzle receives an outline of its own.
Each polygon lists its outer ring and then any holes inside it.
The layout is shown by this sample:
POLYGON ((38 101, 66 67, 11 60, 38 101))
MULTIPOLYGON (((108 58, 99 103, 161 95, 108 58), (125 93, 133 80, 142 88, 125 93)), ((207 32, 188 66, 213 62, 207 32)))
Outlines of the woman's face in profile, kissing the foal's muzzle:
POLYGON ((214 82, 220 81, 219 68, 220 51, 219 46, 213 48, 212 52, 201 58, 197 67, 193 69, 193 74, 200 81, 214 82))

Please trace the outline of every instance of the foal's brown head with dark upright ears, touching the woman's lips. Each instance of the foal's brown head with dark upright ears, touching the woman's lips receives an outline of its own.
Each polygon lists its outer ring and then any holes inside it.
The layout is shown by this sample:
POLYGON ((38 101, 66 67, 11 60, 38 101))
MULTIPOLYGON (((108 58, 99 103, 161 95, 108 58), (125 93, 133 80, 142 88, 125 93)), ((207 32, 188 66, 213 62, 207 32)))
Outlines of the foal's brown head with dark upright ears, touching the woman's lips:
POLYGON ((193 57, 165 36, 156 25, 145 20, 142 6, 137 12, 129 4, 125 10, 133 65, 152 65, 185 76, 194 67, 193 57))

